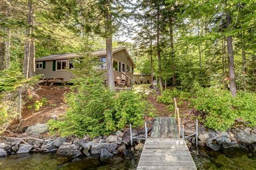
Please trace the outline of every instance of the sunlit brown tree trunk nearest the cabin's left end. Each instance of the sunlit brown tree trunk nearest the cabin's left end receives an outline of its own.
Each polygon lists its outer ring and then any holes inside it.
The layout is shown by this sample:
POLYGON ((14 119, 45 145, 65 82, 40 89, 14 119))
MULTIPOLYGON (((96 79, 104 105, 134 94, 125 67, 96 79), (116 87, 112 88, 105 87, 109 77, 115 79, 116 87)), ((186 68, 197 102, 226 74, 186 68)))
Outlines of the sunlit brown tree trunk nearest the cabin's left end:
POLYGON ((30 36, 31 36, 31 25, 32 25, 32 0, 28 1, 28 26, 26 30, 26 39, 24 46, 24 60, 23 60, 23 73, 25 78, 29 78, 29 61, 30 61, 30 36))

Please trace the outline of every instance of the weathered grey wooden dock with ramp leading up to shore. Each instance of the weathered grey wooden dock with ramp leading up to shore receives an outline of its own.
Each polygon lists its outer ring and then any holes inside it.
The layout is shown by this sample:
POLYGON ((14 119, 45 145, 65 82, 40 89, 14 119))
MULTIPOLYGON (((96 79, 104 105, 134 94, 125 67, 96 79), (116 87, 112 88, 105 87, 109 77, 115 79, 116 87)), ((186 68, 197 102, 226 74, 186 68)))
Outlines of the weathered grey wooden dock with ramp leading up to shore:
POLYGON ((197 169, 174 118, 156 118, 137 169, 197 169))

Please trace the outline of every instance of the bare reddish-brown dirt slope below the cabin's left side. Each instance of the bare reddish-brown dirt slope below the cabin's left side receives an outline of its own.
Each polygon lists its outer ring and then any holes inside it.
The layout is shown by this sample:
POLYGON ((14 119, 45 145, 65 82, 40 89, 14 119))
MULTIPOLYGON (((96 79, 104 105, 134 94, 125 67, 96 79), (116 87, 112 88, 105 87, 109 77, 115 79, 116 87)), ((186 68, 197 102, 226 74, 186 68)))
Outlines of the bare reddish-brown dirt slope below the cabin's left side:
POLYGON ((22 124, 21 127, 31 126, 38 123, 46 123, 51 119, 51 115, 56 114, 57 116, 65 113, 68 106, 64 101, 64 94, 69 91, 69 87, 64 86, 41 86, 36 91, 37 98, 25 99, 26 105, 22 111, 22 124), (46 98, 48 104, 42 106, 39 111, 35 108, 28 108, 35 103, 36 100, 46 98))

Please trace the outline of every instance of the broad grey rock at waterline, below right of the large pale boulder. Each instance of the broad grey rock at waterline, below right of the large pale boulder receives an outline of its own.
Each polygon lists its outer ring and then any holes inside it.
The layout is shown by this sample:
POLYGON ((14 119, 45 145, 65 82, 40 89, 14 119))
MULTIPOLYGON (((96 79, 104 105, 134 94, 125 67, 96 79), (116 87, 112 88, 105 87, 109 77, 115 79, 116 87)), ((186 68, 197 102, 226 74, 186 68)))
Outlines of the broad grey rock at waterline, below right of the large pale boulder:
POLYGON ((62 145, 58 148, 57 155, 70 156, 73 158, 79 157, 82 154, 75 144, 62 145))

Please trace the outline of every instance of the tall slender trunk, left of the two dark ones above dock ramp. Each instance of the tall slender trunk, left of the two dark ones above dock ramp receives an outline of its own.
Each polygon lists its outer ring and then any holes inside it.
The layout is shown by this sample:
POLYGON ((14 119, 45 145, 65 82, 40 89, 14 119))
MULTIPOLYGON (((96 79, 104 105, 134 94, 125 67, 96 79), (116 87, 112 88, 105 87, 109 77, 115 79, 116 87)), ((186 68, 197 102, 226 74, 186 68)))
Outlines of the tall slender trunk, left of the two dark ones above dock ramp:
POLYGON ((159 37, 160 37, 160 9, 158 6, 158 8, 157 8, 157 57, 158 57, 158 70, 159 70, 158 78, 159 78, 160 90, 163 90, 163 80, 161 77, 161 53, 160 53, 159 37))

